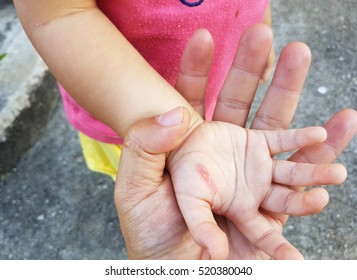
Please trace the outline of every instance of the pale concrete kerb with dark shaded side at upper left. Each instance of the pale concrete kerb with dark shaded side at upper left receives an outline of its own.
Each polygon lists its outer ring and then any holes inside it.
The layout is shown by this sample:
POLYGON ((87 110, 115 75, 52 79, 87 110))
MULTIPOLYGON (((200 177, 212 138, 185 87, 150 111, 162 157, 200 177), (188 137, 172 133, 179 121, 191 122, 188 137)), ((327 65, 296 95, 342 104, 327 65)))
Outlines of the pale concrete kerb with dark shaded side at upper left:
POLYGON ((0 0, 0 174, 43 132, 58 101, 56 81, 27 39, 11 1, 0 0))

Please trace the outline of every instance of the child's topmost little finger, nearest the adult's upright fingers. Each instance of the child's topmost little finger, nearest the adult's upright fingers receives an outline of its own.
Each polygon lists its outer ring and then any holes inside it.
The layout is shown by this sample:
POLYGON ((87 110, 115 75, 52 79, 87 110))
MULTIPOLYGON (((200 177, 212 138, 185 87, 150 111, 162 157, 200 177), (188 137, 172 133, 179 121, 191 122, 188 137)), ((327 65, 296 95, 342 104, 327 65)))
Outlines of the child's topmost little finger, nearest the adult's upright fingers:
POLYGON ((264 131, 263 133, 272 155, 321 143, 327 137, 323 127, 264 131))

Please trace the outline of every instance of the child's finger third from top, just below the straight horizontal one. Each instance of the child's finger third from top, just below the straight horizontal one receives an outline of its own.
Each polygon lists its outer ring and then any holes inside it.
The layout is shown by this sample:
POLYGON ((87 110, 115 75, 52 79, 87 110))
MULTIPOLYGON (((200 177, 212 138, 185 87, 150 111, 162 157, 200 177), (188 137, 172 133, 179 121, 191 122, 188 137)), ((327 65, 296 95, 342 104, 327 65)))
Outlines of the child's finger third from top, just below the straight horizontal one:
POLYGON ((286 186, 274 185, 260 207, 273 213, 306 216, 321 212, 328 201, 328 192, 322 188, 296 192, 286 186))

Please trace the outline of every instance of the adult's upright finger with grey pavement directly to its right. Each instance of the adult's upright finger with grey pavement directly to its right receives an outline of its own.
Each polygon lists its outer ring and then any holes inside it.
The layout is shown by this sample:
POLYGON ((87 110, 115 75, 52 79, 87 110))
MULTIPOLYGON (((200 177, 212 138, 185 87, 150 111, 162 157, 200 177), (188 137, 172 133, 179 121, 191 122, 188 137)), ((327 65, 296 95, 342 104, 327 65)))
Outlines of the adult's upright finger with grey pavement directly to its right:
POLYGON ((291 43, 282 50, 251 128, 275 130, 290 126, 310 63, 311 52, 305 44, 291 43))

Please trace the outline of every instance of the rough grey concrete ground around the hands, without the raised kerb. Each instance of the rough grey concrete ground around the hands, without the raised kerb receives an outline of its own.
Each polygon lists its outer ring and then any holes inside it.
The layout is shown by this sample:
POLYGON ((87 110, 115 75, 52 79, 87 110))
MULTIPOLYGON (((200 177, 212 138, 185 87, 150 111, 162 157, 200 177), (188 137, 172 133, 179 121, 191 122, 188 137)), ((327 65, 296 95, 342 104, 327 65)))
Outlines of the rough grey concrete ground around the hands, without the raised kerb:
MULTIPOLYGON (((343 108, 357 109, 357 1, 274 0, 272 6, 277 52, 303 41, 313 54, 293 126, 321 125, 343 108)), ((329 206, 285 227, 307 259, 357 259, 356 138, 338 162, 349 177, 327 188, 329 206)), ((0 259, 125 259, 112 192, 110 179, 86 169, 58 105, 35 145, 0 176, 0 259)))

